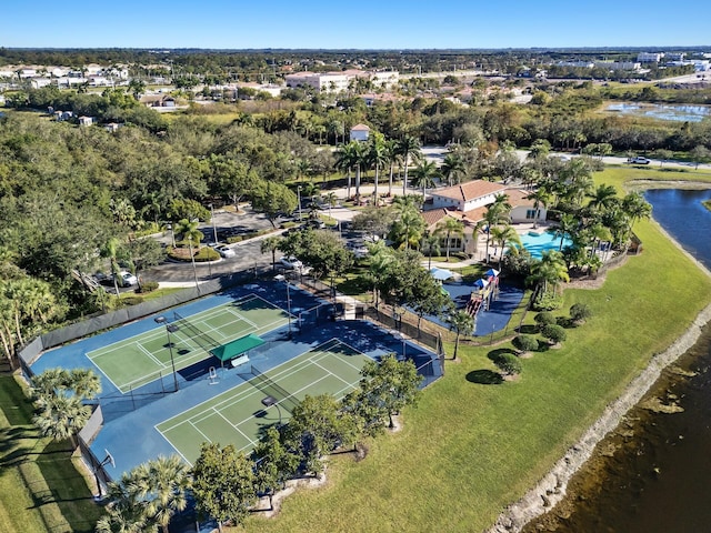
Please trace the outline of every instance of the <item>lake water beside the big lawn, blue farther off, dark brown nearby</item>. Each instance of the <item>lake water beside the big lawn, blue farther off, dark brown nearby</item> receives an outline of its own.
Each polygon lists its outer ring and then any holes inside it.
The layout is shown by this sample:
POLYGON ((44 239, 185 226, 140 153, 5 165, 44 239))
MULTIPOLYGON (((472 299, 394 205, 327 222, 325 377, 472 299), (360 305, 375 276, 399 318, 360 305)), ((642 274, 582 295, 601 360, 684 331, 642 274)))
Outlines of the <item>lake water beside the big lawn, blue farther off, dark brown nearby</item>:
MULTIPOLYGON (((711 212, 701 205, 711 190, 665 189, 644 195, 654 219, 711 269, 711 212)), ((674 366, 681 372, 668 369, 650 395, 675 401, 683 412, 632 410, 630 424, 603 443, 614 453, 597 457, 572 480, 572 509, 562 512, 567 516, 557 522, 543 517, 524 531, 711 531, 711 325, 674 366)))

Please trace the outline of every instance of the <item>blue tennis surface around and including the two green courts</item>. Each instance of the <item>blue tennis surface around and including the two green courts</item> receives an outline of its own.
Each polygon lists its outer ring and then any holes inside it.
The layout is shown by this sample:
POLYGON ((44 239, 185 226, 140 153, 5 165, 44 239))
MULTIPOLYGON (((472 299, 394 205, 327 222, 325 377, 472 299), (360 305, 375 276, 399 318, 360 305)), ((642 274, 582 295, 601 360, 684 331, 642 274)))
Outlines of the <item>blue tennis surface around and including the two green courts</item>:
MULTIPOLYGON (((172 311, 163 311, 163 315, 171 316, 172 311)), ((186 360, 184 366, 177 366, 177 392, 172 392, 173 374, 166 363, 168 352, 162 351, 168 344, 166 326, 156 323, 156 316, 50 350, 32 364, 34 373, 61 366, 91 368, 100 375, 102 392, 98 403, 103 414, 103 426, 90 447, 98 456, 103 456, 104 450, 111 452, 116 467, 108 466, 107 473, 114 479, 160 454, 180 453, 191 462, 202 440, 219 440, 222 445, 232 443, 238 449, 249 450, 254 442, 253 431, 259 431, 260 424, 273 423, 277 416, 276 408, 264 410, 262 406, 262 413, 256 410, 264 394, 281 391, 284 396, 283 391, 287 391, 288 398, 278 398, 287 420, 289 402, 299 401, 304 394, 346 394, 358 382, 363 362, 370 359, 378 360, 388 353, 402 358, 404 352, 407 359, 420 369, 425 382, 441 376, 437 355, 432 352, 411 342, 403 343, 400 338, 368 321, 329 320, 332 308, 328 302, 293 285, 288 295, 283 283, 248 284, 191 302, 177 308, 177 311, 187 320, 194 319, 200 329, 214 334, 219 342, 258 331, 263 343, 247 353, 248 363, 238 366, 232 366, 229 361, 222 363, 204 350, 194 361, 186 360), (244 299, 268 302, 269 305, 262 306, 263 313, 286 320, 272 323, 268 316, 260 322, 249 314, 238 318, 222 312, 214 314, 216 309, 229 308, 244 299), (239 328, 232 321, 239 323, 239 328), (257 330, 247 326, 247 322, 252 322, 257 330), (260 324, 268 326, 260 329, 260 324), (130 381, 137 376, 132 369, 120 370, 117 374, 116 365, 108 361, 111 361, 111 354, 121 353, 121 350, 108 350, 107 346, 122 345, 120 343, 134 339, 149 340, 148 348, 143 348, 149 352, 156 350, 151 356, 164 368, 158 378, 146 381, 138 376, 138 386, 127 388, 126 383, 114 383, 113 379, 122 375, 130 381), (97 354, 102 355, 97 358, 97 354), (268 385, 256 379, 251 369, 267 375, 268 385), (269 389, 272 383, 277 389, 269 389), (207 424, 201 422, 204 416, 210 419, 207 424), (186 438, 183 433, 188 428, 193 433, 197 428, 204 434, 186 438)), ((181 343, 188 343, 191 353, 199 352, 197 345, 190 344, 190 336, 173 339, 173 342, 176 351, 181 349, 181 343)))

